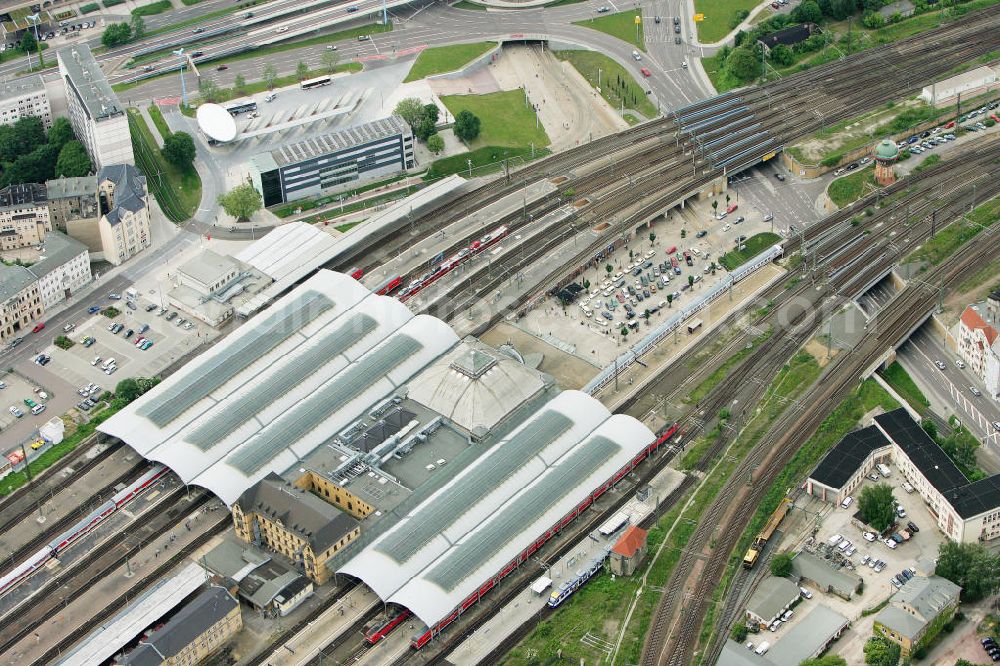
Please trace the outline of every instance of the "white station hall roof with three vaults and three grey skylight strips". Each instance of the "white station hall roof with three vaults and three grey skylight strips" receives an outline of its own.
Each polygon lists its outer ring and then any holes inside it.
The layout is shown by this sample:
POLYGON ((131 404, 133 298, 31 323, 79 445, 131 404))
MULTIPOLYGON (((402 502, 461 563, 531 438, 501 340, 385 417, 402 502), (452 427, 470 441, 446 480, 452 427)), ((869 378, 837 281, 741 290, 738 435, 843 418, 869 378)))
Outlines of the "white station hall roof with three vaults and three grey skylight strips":
POLYGON ((444 322, 320 271, 100 430, 231 505, 457 342, 444 322))

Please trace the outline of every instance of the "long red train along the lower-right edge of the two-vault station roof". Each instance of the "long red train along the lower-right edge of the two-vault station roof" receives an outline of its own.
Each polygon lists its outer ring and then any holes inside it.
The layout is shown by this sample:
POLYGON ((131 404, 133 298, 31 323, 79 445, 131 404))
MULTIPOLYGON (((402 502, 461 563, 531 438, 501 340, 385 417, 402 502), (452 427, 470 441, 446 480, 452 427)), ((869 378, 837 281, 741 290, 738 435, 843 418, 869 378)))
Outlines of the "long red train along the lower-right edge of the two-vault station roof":
POLYGON ((475 603, 479 601, 483 597, 483 595, 485 595, 487 592, 496 587, 496 585, 501 580, 506 578, 509 574, 515 572, 520 565, 524 564, 528 560, 528 558, 531 557, 535 553, 535 551, 537 551, 539 548, 545 545, 545 543, 549 539, 556 536, 564 527, 569 525, 574 518, 576 518, 581 513, 586 511, 590 507, 590 505, 597 500, 598 497, 607 492, 608 489, 612 488, 616 483, 621 481, 626 474, 635 469, 636 465, 638 465, 643 460, 651 456, 653 453, 656 452, 657 449, 659 449, 661 446, 670 441, 671 438, 673 438, 673 436, 677 434, 677 431, 679 429, 680 429, 679 423, 673 423, 665 427, 649 446, 639 451, 639 453, 637 453, 635 457, 632 458, 632 460, 630 460, 626 465, 624 465, 621 469, 615 472, 611 478, 609 478, 600 486, 592 490, 590 494, 588 494, 587 497, 585 497, 583 501, 580 502, 580 504, 578 504, 575 508, 573 508, 573 510, 571 510, 569 513, 563 516, 562 519, 560 519, 552 527, 546 530, 537 539, 528 544, 528 546, 520 553, 518 553, 518 555, 514 557, 514 559, 510 560, 506 565, 503 566, 502 569, 500 569, 500 571, 495 573, 491 578, 489 578, 482 585, 480 585, 478 590, 470 594, 465 599, 465 601, 459 604, 459 606, 455 608, 455 610, 453 610, 450 615, 448 615, 443 620, 440 620, 433 627, 425 626, 418 633, 414 634, 413 637, 410 639, 410 647, 412 647, 414 650, 420 650, 425 645, 427 645, 427 643, 429 643, 432 638, 440 634, 445 627, 447 627, 449 624, 457 620, 462 613, 469 610, 469 608, 475 605, 475 603))

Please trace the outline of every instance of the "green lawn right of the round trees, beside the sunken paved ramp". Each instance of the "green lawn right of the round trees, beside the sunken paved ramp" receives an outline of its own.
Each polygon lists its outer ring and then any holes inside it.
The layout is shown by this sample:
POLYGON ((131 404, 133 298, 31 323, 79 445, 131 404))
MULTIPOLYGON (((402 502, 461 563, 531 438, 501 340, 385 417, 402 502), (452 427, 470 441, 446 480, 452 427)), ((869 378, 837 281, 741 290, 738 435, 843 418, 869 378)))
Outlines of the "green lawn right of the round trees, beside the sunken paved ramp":
POLYGON ((537 150, 549 145, 545 128, 537 123, 534 111, 525 105, 521 90, 486 95, 442 95, 441 102, 452 117, 470 111, 479 118, 479 136, 470 146, 473 150, 486 146, 525 148, 532 144, 537 150))

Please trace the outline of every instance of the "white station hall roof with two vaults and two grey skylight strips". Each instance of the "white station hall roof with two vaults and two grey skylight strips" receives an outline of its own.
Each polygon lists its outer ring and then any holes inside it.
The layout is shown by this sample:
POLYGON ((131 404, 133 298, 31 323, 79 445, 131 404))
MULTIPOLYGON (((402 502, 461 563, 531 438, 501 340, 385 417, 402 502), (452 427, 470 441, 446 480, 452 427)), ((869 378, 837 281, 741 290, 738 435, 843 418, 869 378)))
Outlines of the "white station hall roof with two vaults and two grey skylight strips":
POLYGON ((565 391, 339 571, 433 626, 654 439, 565 391))

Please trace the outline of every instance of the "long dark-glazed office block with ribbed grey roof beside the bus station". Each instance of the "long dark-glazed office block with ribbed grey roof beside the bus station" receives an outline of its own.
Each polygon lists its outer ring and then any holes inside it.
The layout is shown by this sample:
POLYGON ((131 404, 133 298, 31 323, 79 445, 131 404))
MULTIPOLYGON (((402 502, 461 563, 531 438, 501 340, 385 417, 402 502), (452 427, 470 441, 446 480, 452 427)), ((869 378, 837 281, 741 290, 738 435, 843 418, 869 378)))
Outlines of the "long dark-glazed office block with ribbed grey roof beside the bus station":
POLYGON ((310 137, 260 153, 250 162, 254 187, 263 195, 265 206, 315 196, 413 165, 413 133, 399 116, 310 137))

